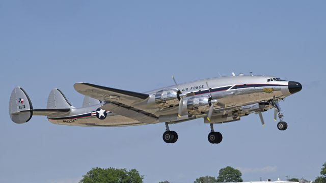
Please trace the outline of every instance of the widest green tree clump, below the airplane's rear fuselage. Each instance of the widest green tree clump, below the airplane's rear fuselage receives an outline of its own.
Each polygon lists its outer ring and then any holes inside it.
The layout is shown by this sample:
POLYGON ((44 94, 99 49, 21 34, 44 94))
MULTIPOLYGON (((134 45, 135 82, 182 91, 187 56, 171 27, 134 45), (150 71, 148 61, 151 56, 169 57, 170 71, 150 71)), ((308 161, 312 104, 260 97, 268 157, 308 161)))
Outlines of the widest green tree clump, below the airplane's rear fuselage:
POLYGON ((136 169, 127 171, 125 168, 93 168, 86 175, 83 175, 83 179, 79 183, 142 183, 143 175, 140 175, 136 169))

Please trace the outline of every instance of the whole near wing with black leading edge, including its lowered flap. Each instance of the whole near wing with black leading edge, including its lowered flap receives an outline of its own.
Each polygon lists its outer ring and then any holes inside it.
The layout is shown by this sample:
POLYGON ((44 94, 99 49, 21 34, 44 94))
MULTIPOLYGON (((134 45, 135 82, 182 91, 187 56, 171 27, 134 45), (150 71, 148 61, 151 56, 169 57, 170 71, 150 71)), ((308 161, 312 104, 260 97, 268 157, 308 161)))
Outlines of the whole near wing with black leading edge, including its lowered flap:
POLYGON ((101 107, 104 110, 147 124, 158 122, 158 117, 156 115, 131 106, 131 104, 142 102, 147 99, 149 97, 148 94, 89 83, 75 83, 74 88, 80 94, 104 101, 105 104, 101 107))

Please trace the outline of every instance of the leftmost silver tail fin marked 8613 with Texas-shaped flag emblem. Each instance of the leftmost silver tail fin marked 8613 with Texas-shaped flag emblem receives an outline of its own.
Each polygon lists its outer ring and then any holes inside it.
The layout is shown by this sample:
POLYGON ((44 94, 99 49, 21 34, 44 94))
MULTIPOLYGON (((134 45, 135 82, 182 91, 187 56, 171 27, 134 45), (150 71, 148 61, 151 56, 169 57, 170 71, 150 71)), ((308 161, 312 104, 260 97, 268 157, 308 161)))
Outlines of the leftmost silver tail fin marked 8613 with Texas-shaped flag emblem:
POLYGON ((17 124, 26 123, 32 118, 33 106, 30 97, 19 86, 11 92, 9 115, 11 120, 17 124))

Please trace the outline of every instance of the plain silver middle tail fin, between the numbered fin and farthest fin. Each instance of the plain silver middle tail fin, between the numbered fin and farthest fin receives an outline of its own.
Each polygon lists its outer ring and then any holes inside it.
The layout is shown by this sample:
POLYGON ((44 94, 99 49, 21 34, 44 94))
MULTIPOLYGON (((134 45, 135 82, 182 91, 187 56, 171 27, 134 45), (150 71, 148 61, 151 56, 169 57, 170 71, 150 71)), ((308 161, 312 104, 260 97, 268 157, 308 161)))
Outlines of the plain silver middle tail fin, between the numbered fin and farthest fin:
POLYGON ((54 88, 51 90, 47 98, 47 109, 68 109, 74 108, 63 95, 60 89, 54 88))

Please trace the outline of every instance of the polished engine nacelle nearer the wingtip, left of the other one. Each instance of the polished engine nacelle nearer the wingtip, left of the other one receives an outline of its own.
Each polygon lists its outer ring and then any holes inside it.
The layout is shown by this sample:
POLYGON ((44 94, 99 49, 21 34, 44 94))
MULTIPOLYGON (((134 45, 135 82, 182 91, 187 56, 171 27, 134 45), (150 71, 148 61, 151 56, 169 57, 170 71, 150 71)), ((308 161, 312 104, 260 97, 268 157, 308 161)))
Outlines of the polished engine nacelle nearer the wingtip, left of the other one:
POLYGON ((179 105, 181 98, 186 97, 185 94, 181 94, 178 89, 162 89, 155 94, 155 103, 161 107, 173 107, 179 105))

